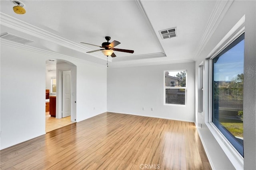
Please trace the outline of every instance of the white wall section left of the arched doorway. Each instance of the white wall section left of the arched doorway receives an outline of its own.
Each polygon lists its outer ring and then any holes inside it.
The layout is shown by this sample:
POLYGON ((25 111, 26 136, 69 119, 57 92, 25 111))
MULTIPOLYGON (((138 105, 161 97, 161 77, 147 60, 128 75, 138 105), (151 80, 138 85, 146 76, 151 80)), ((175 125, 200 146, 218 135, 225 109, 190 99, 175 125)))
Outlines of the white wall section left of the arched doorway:
POLYGON ((45 61, 1 45, 1 149, 45 133, 45 61))

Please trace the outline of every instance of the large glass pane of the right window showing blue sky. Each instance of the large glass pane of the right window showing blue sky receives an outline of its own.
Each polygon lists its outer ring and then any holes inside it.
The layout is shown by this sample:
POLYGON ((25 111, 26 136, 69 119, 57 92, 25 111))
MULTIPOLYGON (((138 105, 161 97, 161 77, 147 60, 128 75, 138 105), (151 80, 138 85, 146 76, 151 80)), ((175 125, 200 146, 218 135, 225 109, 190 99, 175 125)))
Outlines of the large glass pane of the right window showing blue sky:
POLYGON ((243 156, 244 34, 212 63, 212 122, 243 156))

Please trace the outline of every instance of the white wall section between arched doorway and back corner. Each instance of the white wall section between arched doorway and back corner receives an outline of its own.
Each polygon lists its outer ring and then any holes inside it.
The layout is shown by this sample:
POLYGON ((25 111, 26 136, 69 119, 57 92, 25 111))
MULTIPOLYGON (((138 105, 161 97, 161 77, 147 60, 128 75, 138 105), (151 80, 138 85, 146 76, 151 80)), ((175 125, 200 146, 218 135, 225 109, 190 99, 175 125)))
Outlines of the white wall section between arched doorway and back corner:
POLYGON ((107 111, 106 67, 75 63, 77 66, 76 121, 107 111))

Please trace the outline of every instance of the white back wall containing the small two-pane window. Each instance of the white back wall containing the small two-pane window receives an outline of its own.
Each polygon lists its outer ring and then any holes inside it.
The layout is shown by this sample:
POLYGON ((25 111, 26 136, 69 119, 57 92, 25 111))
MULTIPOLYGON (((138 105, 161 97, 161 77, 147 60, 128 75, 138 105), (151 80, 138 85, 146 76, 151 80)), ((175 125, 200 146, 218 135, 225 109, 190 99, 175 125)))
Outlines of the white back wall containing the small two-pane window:
POLYGON ((194 73, 194 63, 109 67, 108 111, 194 122, 194 73), (185 107, 164 106, 164 70, 187 70, 185 107))

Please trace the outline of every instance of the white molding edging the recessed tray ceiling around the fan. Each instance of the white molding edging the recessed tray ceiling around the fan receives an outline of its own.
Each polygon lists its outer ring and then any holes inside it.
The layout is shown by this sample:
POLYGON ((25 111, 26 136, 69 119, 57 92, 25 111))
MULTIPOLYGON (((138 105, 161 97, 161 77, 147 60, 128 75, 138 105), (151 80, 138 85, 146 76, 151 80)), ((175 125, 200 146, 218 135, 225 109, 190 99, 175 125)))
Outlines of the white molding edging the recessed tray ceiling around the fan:
MULTIPOLYGON (((153 27, 148 19, 148 16, 146 15, 146 12, 144 11, 144 8, 143 8, 141 2, 136 1, 136 4, 138 5, 139 10, 141 11, 142 15, 144 16, 146 22, 148 23, 149 29, 152 32, 152 35, 153 35, 154 39, 156 40, 156 43, 158 44, 158 46, 160 47, 162 52, 157 53, 157 54, 154 53, 154 54, 146 54, 146 55, 118 57, 114 60, 111 57, 109 57, 109 59, 108 59, 109 62, 130 61, 130 60, 137 60, 137 59, 150 59, 150 58, 154 58, 154 57, 166 57, 164 49, 163 49, 153 27)), ((92 51, 92 49, 90 49, 88 47, 84 47, 84 46, 80 45, 79 43, 76 43, 76 42, 70 41, 68 39, 65 39, 63 37, 60 37, 54 33, 51 33, 44 29, 41 29, 40 27, 36 27, 30 23, 18 20, 17 18, 14 18, 12 16, 4 14, 3 12, 0 12, 0 22, 1 22, 1 25, 4 25, 6 27, 10 27, 12 29, 21 31, 23 33, 32 35, 32 36, 40 38, 40 39, 44 39, 46 41, 61 45, 63 47, 69 48, 69 49, 73 49, 75 51, 79 51, 81 53, 85 53, 85 51, 92 51)), ((107 60, 106 56, 104 56, 101 53, 96 52, 96 53, 90 53, 89 55, 92 55, 99 59, 103 59, 105 61, 107 60)))

